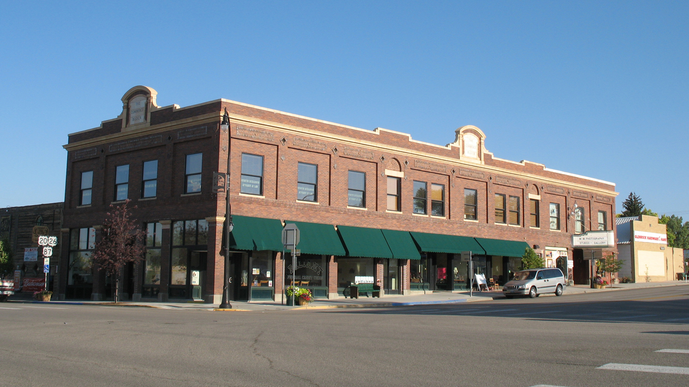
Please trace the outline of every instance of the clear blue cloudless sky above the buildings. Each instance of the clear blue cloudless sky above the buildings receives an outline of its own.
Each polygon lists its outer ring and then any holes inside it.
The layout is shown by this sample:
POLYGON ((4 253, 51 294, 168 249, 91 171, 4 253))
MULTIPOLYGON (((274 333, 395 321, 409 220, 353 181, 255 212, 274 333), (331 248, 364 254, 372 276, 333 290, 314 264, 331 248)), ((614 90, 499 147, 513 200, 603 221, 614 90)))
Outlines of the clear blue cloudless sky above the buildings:
POLYGON ((689 218, 689 2, 0 0, 0 207, 64 198, 67 134, 227 98, 617 184, 689 218))

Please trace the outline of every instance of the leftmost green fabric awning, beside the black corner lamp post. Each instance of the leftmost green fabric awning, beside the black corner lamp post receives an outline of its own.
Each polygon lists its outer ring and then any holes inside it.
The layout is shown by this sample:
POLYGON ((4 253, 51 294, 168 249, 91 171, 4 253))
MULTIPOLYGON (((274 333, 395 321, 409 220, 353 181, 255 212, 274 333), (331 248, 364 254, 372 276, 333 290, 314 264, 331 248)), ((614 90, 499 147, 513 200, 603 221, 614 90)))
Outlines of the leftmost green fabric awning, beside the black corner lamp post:
POLYGON ((277 219, 232 216, 229 249, 282 251, 282 222, 277 219))

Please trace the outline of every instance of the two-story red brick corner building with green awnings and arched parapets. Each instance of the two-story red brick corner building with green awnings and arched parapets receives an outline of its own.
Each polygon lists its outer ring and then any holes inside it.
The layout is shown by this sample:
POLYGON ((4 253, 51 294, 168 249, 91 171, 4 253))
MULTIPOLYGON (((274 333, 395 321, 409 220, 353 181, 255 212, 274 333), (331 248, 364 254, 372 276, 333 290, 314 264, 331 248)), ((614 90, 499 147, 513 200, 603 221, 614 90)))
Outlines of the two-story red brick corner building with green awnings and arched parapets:
POLYGON ((228 154, 232 300, 282 300, 292 271, 285 222, 301 230, 294 279, 316 297, 356 282, 384 294, 466 289, 462 251, 504 282, 527 246, 588 278, 572 234, 615 227, 613 183, 495 158, 471 125, 441 146, 225 99, 158 107, 143 86, 122 102, 120 116, 65 145, 61 297, 107 297, 108 279, 88 257, 108 206, 129 198, 150 237, 145 263, 123 273, 123 293, 219 302, 225 193, 212 186, 228 154))

